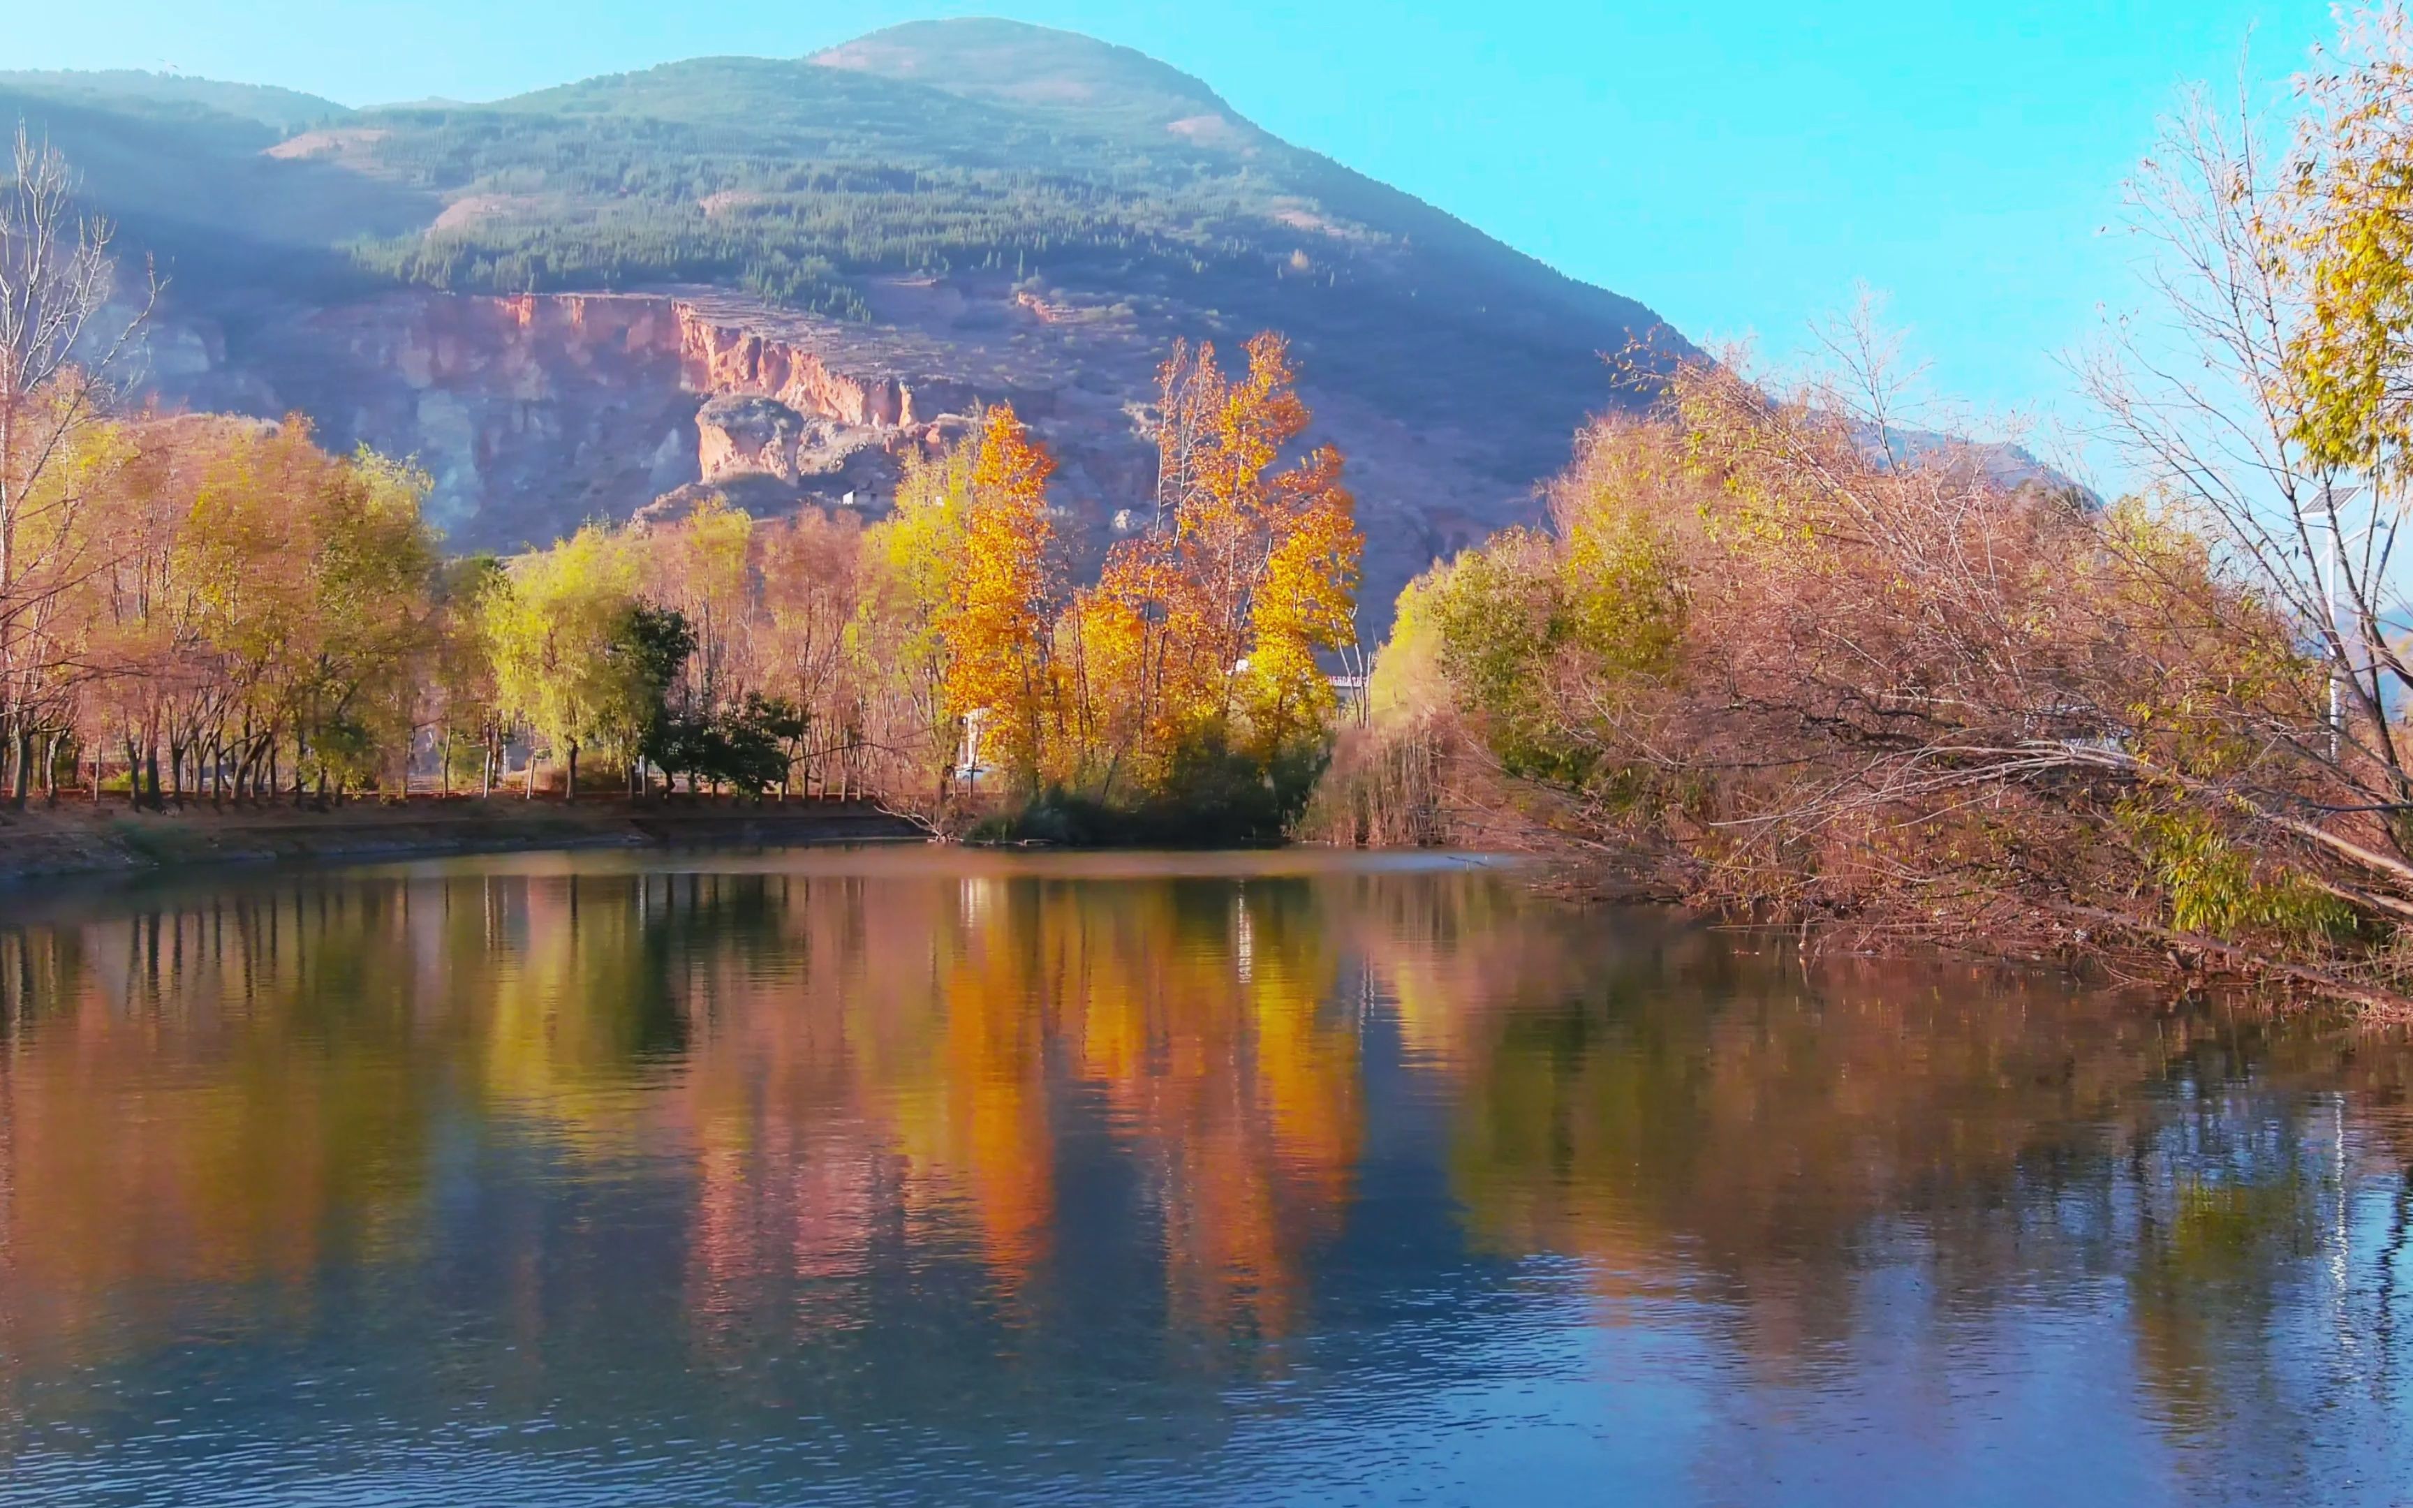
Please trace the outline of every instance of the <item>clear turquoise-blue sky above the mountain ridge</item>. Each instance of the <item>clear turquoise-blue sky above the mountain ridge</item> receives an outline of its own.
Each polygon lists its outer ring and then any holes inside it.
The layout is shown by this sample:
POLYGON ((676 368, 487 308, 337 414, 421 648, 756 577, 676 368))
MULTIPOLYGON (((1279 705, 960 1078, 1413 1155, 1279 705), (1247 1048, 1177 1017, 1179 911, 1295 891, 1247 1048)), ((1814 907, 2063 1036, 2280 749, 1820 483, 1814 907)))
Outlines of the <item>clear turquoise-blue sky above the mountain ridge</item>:
POLYGON ((164 68, 374 104, 492 99, 936 14, 1088 31, 1696 338, 1798 345, 1856 282, 1981 405, 2133 299, 2099 234, 2186 80, 2283 82, 2326 0, 22 0, 7 68, 164 68))

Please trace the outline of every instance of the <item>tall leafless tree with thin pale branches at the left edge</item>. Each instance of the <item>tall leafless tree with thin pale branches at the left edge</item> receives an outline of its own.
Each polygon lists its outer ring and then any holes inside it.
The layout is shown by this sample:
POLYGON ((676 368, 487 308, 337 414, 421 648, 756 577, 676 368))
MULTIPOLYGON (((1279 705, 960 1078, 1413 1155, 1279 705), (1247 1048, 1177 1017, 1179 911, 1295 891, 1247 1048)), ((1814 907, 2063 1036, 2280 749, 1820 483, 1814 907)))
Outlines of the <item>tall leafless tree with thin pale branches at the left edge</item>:
POLYGON ((12 806, 24 806, 58 671, 58 598, 92 569, 87 497, 60 461, 101 417, 152 302, 101 333, 113 232, 80 215, 75 193, 68 159, 19 125, 0 186, 0 733, 14 755, 12 806))

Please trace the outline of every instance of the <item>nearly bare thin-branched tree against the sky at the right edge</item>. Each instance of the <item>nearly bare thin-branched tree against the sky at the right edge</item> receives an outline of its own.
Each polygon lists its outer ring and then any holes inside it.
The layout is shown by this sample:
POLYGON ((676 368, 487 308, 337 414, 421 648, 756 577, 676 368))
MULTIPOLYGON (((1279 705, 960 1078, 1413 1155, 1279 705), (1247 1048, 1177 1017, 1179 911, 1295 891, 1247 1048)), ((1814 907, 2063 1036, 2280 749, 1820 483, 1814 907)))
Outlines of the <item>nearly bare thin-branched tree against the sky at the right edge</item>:
MULTIPOLYGON (((2379 454, 2324 444, 2331 425, 2309 338, 2324 321, 2324 215, 2341 176, 2345 113, 2384 101, 2401 75, 2394 7, 2350 22, 2345 70, 2300 80, 2307 111, 2295 142, 2271 130, 2242 84, 2232 101, 2186 97, 2131 186, 2133 227, 2155 246, 2148 277, 2160 318, 2128 318, 2082 364, 2111 439, 2227 545, 2227 565, 2300 625, 2329 671, 2326 714, 2290 753, 2343 789, 2331 811, 2290 813, 2321 828, 2382 818, 2370 837, 2413 878, 2413 748, 2391 705, 2413 690, 2403 584, 2401 468, 2379 454), (2374 48, 2355 58, 2355 48, 2374 48), (2341 101, 2360 94, 2360 104, 2341 101), (2343 106, 2343 109, 2341 109, 2343 106)), ((2406 150, 2399 123, 2394 147, 2406 150)), ((2403 386, 2413 352, 2370 352, 2379 379, 2403 386), (2389 374, 2394 369, 2394 379, 2389 374)))

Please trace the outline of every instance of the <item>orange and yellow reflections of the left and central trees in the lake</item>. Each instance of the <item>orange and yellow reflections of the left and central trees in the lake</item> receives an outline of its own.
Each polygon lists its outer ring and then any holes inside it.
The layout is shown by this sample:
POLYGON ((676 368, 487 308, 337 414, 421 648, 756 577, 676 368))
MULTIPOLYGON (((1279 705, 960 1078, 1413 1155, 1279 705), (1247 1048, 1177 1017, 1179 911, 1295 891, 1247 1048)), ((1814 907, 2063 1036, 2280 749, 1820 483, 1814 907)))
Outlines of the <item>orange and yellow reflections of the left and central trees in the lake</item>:
MULTIPOLYGON (((685 1180, 707 1337, 799 1281, 801 1327, 849 1322, 881 1240, 1013 1300, 1083 1105, 1141 1170, 1175 1322, 1272 1334, 1361 1151, 1305 881, 601 864, 234 890, 5 948, 0 1259, 63 1334, 147 1284, 302 1293, 417 1250, 446 1115, 572 1177, 685 1180)), ((514 1264, 528 1313, 543 1257, 514 1264)))

